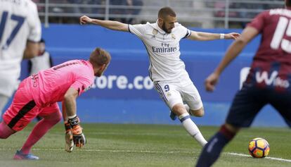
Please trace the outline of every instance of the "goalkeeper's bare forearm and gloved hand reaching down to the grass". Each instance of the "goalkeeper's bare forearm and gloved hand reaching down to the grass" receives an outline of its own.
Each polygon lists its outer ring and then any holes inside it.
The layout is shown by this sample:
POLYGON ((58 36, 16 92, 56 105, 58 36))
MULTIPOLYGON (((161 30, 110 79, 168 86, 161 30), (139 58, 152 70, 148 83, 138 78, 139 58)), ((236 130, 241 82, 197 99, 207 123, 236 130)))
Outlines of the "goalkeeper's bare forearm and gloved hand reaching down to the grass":
POLYGON ((72 128, 73 141, 76 147, 83 147, 86 144, 86 138, 83 134, 83 128, 79 125, 79 118, 77 117, 76 99, 78 91, 70 87, 65 93, 64 104, 65 113, 67 114, 67 122, 72 128))

